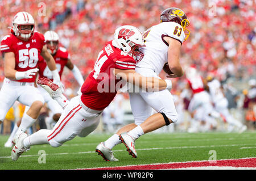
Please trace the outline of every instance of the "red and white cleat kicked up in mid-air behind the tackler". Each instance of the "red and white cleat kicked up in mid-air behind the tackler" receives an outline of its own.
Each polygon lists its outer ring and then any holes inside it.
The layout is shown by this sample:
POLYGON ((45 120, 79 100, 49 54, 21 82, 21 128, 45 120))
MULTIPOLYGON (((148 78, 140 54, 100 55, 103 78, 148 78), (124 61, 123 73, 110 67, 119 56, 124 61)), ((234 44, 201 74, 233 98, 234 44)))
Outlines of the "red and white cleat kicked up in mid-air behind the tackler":
POLYGON ((56 83, 53 83, 49 78, 39 78, 37 83, 42 86, 52 98, 56 98, 62 94, 60 87, 56 85, 56 83))

